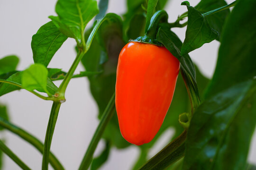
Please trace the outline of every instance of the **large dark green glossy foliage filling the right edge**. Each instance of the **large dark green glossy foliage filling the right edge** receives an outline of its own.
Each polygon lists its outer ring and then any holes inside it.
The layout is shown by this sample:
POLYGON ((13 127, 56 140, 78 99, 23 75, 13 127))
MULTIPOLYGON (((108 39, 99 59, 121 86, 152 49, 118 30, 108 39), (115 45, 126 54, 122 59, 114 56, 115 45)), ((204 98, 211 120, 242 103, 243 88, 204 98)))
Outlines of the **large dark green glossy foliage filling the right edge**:
POLYGON ((192 117, 188 131, 184 170, 245 169, 256 125, 256 69, 252 64, 256 63, 256 20, 248 18, 254 13, 253 5, 253 0, 238 1, 223 28, 207 100, 192 117))

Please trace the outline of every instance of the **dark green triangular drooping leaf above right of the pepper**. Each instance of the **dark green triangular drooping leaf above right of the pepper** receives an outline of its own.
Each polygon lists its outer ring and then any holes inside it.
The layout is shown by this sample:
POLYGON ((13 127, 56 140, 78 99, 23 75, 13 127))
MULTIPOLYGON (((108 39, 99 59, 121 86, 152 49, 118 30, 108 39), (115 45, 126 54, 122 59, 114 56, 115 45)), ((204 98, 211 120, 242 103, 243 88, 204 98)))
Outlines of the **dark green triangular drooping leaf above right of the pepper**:
POLYGON ((181 54, 184 55, 216 39, 219 33, 210 27, 207 19, 198 10, 185 2, 182 5, 188 8, 188 26, 181 49, 181 54))

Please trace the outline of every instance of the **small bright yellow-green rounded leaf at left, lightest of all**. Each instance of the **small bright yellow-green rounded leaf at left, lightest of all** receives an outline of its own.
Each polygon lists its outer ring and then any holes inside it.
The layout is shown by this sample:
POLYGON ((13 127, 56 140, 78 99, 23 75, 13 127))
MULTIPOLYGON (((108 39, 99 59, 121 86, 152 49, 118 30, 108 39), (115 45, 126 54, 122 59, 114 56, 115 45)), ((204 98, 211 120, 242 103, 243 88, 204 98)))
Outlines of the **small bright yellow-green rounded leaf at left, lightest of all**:
POLYGON ((28 91, 37 90, 48 92, 46 89, 48 71, 42 64, 33 64, 23 71, 21 76, 22 87, 28 91))

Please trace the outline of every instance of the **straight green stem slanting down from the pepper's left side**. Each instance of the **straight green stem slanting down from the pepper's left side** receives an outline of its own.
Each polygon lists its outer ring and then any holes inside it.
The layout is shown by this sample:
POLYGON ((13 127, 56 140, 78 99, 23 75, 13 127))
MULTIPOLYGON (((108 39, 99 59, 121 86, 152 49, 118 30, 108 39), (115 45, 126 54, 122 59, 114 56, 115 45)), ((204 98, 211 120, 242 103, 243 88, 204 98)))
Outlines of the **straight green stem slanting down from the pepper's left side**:
POLYGON ((101 139, 101 136, 105 130, 105 127, 109 123, 110 119, 113 116, 113 109, 115 108, 115 93, 112 95, 110 102, 108 103, 106 109, 103 112, 101 121, 91 139, 91 143, 88 146, 88 149, 82 159, 79 170, 87 170, 91 164, 93 153, 101 139))

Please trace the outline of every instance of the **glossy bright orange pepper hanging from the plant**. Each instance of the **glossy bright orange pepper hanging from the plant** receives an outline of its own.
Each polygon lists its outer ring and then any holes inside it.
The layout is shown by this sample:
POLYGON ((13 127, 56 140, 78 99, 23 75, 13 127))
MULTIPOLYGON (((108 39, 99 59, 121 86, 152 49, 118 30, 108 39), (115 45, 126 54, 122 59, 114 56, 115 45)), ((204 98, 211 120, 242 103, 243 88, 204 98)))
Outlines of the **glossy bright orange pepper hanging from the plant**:
POLYGON ((122 136, 150 142, 173 99, 180 62, 165 47, 129 42, 119 54, 116 110, 122 136))

